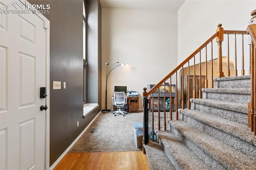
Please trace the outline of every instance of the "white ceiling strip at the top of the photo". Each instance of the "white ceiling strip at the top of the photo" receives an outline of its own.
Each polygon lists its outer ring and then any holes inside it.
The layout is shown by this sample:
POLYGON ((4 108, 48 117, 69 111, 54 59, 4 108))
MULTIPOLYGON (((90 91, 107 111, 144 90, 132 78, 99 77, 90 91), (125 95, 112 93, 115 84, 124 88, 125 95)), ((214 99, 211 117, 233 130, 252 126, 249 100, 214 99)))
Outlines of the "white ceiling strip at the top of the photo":
POLYGON ((185 0, 100 0, 102 8, 178 11, 185 0))

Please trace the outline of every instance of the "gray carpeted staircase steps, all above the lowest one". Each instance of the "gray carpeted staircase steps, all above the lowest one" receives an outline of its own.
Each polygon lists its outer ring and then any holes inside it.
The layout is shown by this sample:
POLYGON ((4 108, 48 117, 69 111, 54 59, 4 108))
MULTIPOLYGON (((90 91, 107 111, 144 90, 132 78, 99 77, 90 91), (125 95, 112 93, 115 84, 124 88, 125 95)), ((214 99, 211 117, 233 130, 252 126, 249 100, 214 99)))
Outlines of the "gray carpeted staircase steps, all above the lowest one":
POLYGON ((256 170, 250 94, 250 75, 214 78, 214 88, 202 89, 203 99, 190 99, 192 109, 179 110, 184 121, 168 121, 171 132, 156 131, 175 169, 256 170))

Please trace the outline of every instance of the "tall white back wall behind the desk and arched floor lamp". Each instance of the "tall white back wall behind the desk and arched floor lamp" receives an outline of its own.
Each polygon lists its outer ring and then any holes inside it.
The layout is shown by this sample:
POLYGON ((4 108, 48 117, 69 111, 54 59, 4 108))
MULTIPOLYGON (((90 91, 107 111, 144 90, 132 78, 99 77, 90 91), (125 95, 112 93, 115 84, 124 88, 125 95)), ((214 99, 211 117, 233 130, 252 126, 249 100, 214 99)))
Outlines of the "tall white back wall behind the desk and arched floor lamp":
MULTIPOLYGON (((143 87, 156 84, 177 65, 178 13, 159 10, 102 8, 102 94, 105 94, 106 65, 118 67, 108 79, 107 107, 114 86, 138 91, 142 109, 143 87)), ((104 107, 105 97, 102 97, 104 107)))

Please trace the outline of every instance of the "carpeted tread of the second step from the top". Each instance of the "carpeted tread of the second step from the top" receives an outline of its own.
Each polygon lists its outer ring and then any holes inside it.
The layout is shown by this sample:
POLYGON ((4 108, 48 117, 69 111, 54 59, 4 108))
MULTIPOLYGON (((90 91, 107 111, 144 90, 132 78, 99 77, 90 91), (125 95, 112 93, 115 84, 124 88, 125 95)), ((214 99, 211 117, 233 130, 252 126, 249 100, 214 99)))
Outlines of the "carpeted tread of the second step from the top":
POLYGON ((206 89, 202 89, 202 92, 250 95, 251 94, 251 89, 206 88, 206 89))

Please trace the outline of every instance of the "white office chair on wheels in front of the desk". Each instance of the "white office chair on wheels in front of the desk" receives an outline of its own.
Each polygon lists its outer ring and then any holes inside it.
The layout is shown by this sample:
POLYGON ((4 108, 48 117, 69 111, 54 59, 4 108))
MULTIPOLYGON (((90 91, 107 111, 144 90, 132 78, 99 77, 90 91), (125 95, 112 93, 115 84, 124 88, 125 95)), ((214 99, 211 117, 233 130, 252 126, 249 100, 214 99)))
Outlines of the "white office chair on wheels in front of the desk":
POLYGON ((114 111, 113 114, 118 114, 121 113, 124 116, 124 113, 127 114, 126 111, 121 111, 121 107, 126 105, 127 103, 127 97, 124 95, 124 91, 120 91, 120 92, 114 92, 114 97, 112 97, 112 102, 114 105, 119 107, 118 111, 114 111))

